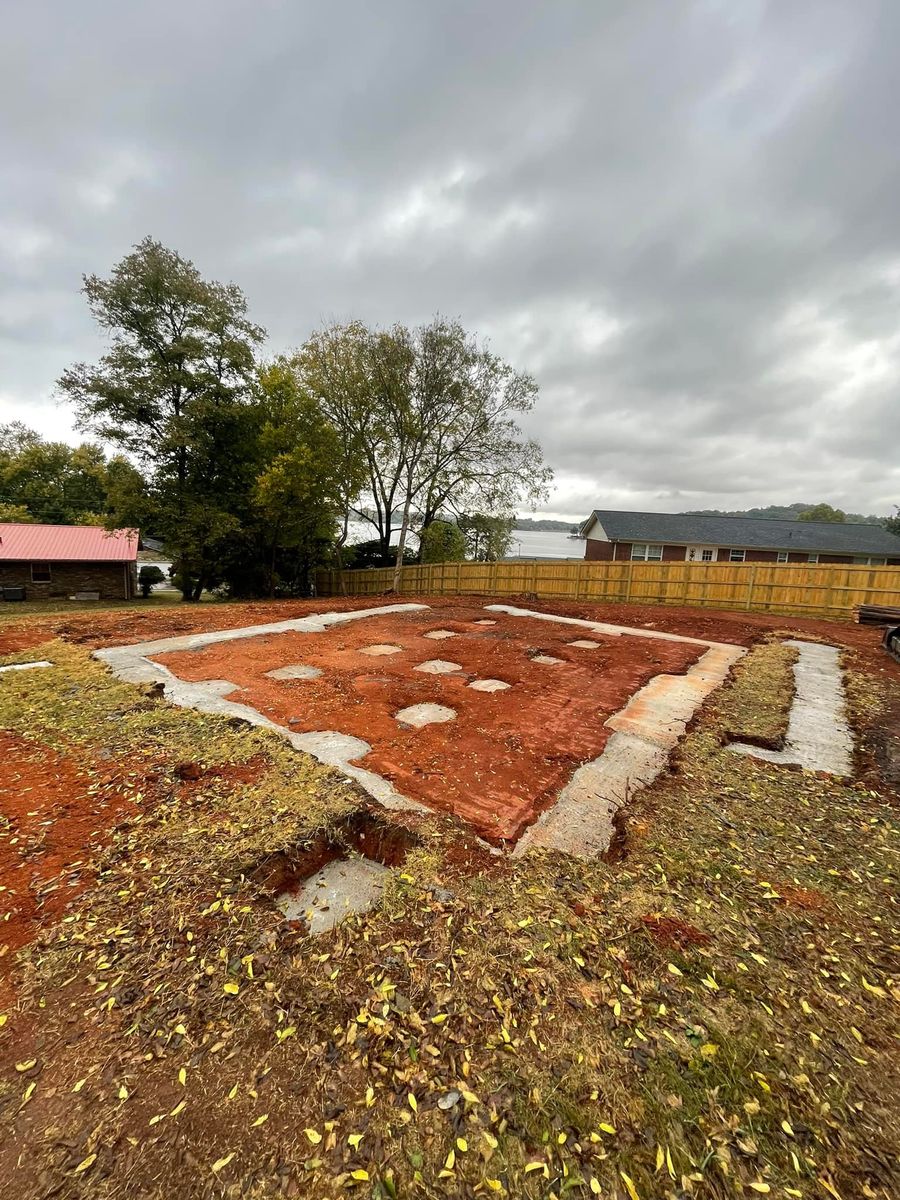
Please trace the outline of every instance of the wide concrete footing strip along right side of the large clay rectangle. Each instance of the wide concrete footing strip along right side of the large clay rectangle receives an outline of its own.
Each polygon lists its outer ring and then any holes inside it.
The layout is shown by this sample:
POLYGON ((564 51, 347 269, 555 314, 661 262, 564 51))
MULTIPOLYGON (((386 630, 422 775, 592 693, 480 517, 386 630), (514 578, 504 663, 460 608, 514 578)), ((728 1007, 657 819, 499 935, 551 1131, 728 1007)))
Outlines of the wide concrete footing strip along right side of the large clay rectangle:
POLYGON ((710 646, 683 676, 655 676, 606 721, 613 731, 604 752, 578 767, 552 809, 520 838, 514 856, 559 850, 590 858, 608 850, 616 812, 647 787, 668 762, 700 704, 746 652, 710 646))

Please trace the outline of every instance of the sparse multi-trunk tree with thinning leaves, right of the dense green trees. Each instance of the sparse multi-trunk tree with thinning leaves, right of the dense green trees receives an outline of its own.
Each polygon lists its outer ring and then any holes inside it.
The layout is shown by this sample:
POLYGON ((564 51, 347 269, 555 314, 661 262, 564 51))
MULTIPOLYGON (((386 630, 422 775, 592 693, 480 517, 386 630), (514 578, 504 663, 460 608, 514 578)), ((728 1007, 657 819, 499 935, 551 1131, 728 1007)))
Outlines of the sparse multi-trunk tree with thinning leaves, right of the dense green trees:
POLYGON ((413 331, 331 326, 294 362, 365 460, 372 509, 355 511, 373 524, 385 554, 401 510, 395 588, 414 520, 427 527, 442 512, 510 516, 518 503, 547 494, 552 472, 517 422, 534 407, 536 383, 458 322, 438 317, 413 331))

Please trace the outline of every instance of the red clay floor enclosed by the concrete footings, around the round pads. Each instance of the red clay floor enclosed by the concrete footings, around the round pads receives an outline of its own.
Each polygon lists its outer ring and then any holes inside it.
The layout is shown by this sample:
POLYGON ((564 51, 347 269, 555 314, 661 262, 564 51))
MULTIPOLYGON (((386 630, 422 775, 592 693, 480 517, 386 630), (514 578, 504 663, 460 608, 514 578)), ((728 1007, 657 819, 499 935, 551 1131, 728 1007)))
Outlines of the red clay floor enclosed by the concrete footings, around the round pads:
POLYGON ((469 606, 396 613, 323 634, 277 634, 202 650, 158 655, 182 679, 228 679, 232 697, 296 732, 336 730, 371 746, 361 766, 398 791, 472 823, 492 842, 516 840, 551 805, 574 769, 604 749, 604 721, 653 676, 683 673, 702 647, 637 637, 602 637, 576 626, 485 613, 469 606), (491 618, 496 625, 474 622, 491 618), (446 629, 442 641, 422 635, 446 629), (598 649, 566 644, 578 637, 598 649), (400 654, 372 658, 377 643, 400 654), (535 654, 564 660, 532 662, 535 654), (428 659, 458 662, 452 676, 413 670, 428 659), (318 679, 269 679, 265 672, 306 664, 318 679), (473 691, 474 679, 502 679, 506 691, 473 691), (455 721, 408 728, 395 713, 445 704, 455 721))

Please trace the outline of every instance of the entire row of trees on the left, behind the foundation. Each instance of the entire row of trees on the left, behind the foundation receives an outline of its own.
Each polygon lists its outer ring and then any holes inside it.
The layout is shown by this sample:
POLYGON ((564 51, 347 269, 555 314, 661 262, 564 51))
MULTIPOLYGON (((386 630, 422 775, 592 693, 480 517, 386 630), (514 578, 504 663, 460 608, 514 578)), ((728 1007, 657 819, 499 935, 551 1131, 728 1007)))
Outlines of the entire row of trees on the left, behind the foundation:
POLYGON ((413 532, 425 560, 500 557, 516 508, 547 496, 518 424, 534 379, 457 320, 332 324, 266 356, 241 289, 150 238, 83 293, 109 348, 58 388, 116 452, 6 427, 0 518, 140 528, 186 600, 302 593, 325 562, 398 571, 413 532))

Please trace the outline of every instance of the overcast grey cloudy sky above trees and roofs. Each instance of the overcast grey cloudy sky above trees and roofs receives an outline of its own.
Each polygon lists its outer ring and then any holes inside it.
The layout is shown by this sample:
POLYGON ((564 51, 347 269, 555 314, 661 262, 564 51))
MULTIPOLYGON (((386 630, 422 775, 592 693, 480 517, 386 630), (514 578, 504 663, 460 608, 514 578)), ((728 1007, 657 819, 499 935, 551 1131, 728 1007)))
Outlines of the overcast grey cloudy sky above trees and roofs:
POLYGON ((271 350, 457 316, 547 511, 900 503, 898 0, 6 0, 0 421, 145 234, 271 350))

